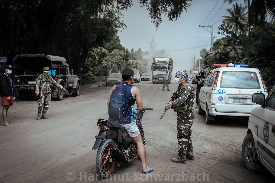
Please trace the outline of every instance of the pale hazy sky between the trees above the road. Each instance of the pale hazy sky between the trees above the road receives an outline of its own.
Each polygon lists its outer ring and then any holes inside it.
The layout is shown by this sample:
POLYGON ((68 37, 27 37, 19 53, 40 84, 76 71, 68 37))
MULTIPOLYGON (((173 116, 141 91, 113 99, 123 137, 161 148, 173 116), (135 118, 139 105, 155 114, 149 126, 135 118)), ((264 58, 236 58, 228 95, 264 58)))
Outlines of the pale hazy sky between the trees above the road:
MULTIPOLYGON (((243 0, 239 0, 238 3, 243 4, 243 0)), ((141 47, 143 52, 150 50, 149 43, 154 38, 156 50, 166 49, 166 53, 174 60, 173 73, 177 69, 193 69, 191 67, 194 65, 194 54, 199 54, 201 48, 209 50, 211 44, 211 27, 208 27, 208 32, 207 27, 203 29, 199 25, 213 24, 213 36, 221 38, 222 35, 217 33, 218 27, 222 24, 222 16, 227 13, 226 9, 232 7, 232 4, 224 3, 223 0, 193 0, 177 21, 169 21, 163 16, 162 23, 156 30, 146 8, 140 7, 138 0, 133 0, 131 9, 122 12, 125 15, 124 23, 127 29, 118 35, 122 46, 129 50, 134 48, 135 51, 141 47), (199 47, 203 45, 208 46, 199 47)), ((196 60, 198 58, 196 55, 196 60)))

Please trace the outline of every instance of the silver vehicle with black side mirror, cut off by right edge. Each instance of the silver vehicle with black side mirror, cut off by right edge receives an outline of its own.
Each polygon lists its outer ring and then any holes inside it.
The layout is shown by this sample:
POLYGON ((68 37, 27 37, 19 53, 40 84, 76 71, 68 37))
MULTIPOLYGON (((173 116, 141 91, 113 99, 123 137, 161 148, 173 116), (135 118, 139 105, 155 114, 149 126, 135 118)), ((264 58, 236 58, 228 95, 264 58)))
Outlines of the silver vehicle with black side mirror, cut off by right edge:
POLYGON ((262 93, 253 94, 252 102, 262 106, 250 113, 242 145, 243 162, 253 172, 265 167, 275 177, 275 86, 266 98, 262 93))

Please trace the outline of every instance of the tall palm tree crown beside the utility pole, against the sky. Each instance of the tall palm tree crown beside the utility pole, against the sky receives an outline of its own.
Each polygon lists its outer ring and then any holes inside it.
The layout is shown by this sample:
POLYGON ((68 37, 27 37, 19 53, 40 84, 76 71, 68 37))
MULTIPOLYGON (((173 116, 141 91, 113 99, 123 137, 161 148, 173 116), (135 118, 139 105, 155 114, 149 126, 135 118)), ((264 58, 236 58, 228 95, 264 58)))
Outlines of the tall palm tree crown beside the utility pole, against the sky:
MULTIPOLYGON (((242 7, 241 4, 233 4, 232 9, 226 9, 230 16, 222 16, 224 19, 223 21, 227 24, 224 27, 226 29, 232 29, 232 33, 238 35, 238 31, 241 32, 248 31, 248 26, 246 24, 247 20, 247 12, 245 12, 246 7, 242 7)), ((232 34, 231 34, 232 37, 232 34)))

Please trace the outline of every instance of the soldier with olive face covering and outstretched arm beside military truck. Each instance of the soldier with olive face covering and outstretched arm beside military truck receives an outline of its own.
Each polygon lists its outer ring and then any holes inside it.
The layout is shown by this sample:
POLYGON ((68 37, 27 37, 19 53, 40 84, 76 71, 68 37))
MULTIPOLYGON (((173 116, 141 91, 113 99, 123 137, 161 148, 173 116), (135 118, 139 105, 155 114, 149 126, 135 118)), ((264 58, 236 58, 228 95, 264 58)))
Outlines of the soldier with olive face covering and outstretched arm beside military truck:
POLYGON ((51 102, 51 83, 57 86, 60 89, 63 89, 65 92, 68 92, 63 86, 59 85, 53 78, 50 76, 49 67, 43 68, 43 73, 38 76, 37 83, 35 86, 35 95, 39 97, 39 88, 41 87, 41 98, 38 99, 38 112, 37 119, 40 119, 40 115, 43 108, 42 117, 43 119, 49 119, 46 116, 46 112, 49 109, 51 102))

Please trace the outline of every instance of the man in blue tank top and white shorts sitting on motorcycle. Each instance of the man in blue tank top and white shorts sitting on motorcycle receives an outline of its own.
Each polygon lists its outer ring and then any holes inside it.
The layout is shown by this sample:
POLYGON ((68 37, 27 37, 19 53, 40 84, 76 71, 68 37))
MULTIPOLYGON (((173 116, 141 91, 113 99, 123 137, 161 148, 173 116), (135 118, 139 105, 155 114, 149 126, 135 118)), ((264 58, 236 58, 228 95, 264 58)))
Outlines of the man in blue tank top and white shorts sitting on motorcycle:
MULTIPOLYGON (((127 84, 133 84, 134 83, 134 71, 132 69, 124 69, 121 72, 122 75, 122 80, 124 81, 124 85, 127 84)), ((108 103, 107 105, 109 106, 109 102, 110 102, 110 96, 112 91, 116 88, 117 85, 114 85, 110 91, 109 97, 108 97, 108 103)), ((126 109, 126 112, 124 114, 123 117, 117 118, 114 116, 111 116, 109 114, 109 118, 108 120, 110 121, 114 121, 114 122, 118 122, 121 125, 123 125, 125 127, 125 129, 127 130, 128 134, 134 139, 134 141, 137 144, 137 148, 138 148, 138 156, 141 160, 141 164, 142 164, 142 172, 143 173, 150 173, 153 171, 153 168, 147 166, 146 164, 146 152, 145 152, 145 147, 143 145, 142 142, 142 138, 139 132, 139 129, 136 125, 135 122, 133 122, 133 105, 134 102, 136 102, 136 105, 138 107, 139 110, 143 109, 143 103, 141 101, 141 95, 140 95, 140 91, 138 88, 134 87, 133 85, 129 86, 131 87, 131 94, 128 100, 128 108, 126 109)))

